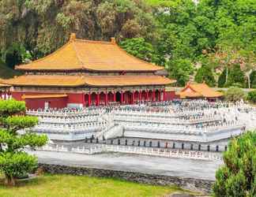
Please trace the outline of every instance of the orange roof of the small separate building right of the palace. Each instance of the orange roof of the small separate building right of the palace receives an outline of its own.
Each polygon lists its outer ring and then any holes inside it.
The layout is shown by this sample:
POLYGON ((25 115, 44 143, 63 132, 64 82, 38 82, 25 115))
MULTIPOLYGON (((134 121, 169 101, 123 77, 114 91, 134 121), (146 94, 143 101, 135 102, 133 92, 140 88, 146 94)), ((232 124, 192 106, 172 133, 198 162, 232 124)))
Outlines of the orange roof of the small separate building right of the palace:
POLYGON ((217 98, 223 96, 219 91, 214 91, 207 84, 186 84, 186 87, 178 93, 183 98, 194 98, 194 97, 204 97, 204 98, 217 98), (190 89, 192 91, 186 91, 190 89))

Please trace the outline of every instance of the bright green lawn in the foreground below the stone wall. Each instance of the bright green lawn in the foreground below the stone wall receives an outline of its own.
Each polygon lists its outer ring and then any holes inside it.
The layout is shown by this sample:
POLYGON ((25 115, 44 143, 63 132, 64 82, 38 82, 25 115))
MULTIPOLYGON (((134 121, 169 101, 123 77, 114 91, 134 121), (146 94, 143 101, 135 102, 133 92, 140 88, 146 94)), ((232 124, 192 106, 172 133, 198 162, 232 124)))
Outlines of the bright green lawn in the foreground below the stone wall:
POLYGON ((13 197, 115 197, 164 196, 183 192, 180 188, 137 184, 124 180, 71 175, 44 175, 17 184, 16 187, 0 185, 0 196, 13 197))

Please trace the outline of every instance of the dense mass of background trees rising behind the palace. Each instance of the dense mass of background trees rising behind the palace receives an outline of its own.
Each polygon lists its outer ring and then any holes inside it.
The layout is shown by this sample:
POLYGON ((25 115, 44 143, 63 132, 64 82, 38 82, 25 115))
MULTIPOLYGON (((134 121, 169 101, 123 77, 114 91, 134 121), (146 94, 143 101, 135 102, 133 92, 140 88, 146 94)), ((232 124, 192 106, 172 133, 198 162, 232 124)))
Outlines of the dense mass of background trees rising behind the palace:
POLYGON ((212 86, 253 87, 254 10, 254 0, 2 0, 0 53, 13 67, 56 50, 70 32, 85 39, 115 36, 130 54, 164 65, 180 86, 197 75, 212 86))

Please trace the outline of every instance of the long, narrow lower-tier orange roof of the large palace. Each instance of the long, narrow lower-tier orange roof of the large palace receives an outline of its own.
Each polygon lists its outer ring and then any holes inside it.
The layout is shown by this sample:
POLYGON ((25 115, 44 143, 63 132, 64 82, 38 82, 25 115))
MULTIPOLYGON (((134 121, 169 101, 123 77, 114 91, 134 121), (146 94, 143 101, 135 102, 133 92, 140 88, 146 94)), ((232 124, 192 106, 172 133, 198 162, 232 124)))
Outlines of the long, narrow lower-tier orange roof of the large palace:
POLYGON ((164 85, 175 83, 164 76, 61 76, 61 75, 24 75, 6 80, 13 86, 133 86, 133 85, 164 85))

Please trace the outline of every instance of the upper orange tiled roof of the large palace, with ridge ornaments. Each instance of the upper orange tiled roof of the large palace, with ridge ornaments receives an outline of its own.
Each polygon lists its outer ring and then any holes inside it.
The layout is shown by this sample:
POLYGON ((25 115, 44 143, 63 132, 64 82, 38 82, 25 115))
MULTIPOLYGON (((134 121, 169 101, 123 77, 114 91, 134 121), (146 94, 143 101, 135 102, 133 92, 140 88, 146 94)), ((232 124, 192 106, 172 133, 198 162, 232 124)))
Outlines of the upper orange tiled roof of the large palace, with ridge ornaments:
POLYGON ((21 70, 93 70, 93 71, 157 71, 163 67, 152 65, 127 54, 115 41, 91 41, 76 39, 70 41, 54 53, 32 61, 26 65, 18 65, 21 70))

